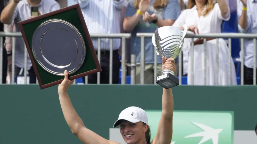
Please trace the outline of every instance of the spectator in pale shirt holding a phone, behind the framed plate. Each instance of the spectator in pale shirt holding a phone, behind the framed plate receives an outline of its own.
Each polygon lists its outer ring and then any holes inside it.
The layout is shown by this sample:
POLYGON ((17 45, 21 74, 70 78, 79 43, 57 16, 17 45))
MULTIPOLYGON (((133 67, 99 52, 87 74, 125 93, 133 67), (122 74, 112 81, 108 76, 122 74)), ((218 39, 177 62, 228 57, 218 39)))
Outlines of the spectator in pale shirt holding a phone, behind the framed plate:
MULTIPOLYGON (((8 5, 3 9, 1 13, 1 22, 10 24, 14 21, 16 31, 20 32, 18 25, 19 21, 30 19, 31 7, 37 6, 39 14, 46 14, 60 9, 60 5, 54 0, 10 0, 8 5)), ((15 40, 15 66, 17 67, 17 73, 28 70, 30 83, 36 83, 36 75, 32 67, 29 55, 27 55, 27 67, 24 68, 24 40, 22 37, 17 37, 15 40)), ((23 73, 23 72, 22 72, 23 73)))

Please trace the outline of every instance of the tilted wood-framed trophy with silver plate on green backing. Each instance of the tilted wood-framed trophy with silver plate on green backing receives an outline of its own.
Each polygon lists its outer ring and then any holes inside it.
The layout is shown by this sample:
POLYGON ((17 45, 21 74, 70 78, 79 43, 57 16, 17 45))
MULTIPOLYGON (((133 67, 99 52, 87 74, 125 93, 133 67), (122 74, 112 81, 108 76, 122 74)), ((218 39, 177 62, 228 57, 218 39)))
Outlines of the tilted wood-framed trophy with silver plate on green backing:
POLYGON ((40 89, 101 71, 79 4, 19 22, 40 89))

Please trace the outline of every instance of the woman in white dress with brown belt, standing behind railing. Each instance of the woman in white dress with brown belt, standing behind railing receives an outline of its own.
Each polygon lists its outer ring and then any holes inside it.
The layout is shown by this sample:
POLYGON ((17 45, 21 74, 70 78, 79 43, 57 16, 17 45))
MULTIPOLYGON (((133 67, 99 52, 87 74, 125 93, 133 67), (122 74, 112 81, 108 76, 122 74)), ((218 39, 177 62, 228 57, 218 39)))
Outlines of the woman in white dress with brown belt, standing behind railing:
MULTIPOLYGON (((230 11, 225 0, 189 0, 184 10, 172 26, 188 25, 194 33, 221 33, 221 23, 230 18, 230 11)), ((183 74, 188 74, 188 85, 236 85, 235 66, 229 57, 224 39, 219 39, 219 62, 216 61, 216 39, 207 39, 206 81, 203 77, 203 39, 194 39, 194 49, 190 49, 191 38, 184 40, 183 74), (196 43, 197 41, 197 43, 196 43), (229 59, 231 60, 231 81, 229 80, 229 59)))

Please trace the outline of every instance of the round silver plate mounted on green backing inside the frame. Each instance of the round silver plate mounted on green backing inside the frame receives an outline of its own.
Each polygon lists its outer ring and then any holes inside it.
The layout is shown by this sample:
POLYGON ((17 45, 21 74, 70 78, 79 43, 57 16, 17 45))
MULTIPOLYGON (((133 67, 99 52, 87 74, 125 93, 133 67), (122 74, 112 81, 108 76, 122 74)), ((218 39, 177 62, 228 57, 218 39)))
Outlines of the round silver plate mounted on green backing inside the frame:
POLYGON ((75 73, 84 63, 85 42, 76 27, 61 19, 41 23, 32 38, 32 53, 47 72, 63 76, 75 73))

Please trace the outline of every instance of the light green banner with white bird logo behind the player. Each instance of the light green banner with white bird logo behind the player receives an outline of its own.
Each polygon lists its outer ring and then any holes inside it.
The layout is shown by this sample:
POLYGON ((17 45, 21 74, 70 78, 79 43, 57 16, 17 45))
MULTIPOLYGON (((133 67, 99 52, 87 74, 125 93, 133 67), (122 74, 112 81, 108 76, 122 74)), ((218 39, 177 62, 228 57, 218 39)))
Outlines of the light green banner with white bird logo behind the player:
MULTIPOLYGON (((147 110, 151 139, 161 111, 147 110)), ((174 111, 171 144, 233 144, 233 112, 174 111)))

